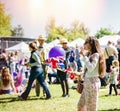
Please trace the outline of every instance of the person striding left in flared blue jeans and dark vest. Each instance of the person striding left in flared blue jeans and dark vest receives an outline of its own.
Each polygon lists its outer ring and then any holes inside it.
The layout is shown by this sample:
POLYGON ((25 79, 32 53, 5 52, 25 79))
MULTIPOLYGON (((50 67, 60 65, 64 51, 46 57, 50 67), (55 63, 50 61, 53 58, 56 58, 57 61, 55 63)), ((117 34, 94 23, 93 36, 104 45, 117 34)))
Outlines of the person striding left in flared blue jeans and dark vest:
POLYGON ((37 79, 39 81, 39 84, 43 87, 45 93, 46 93, 46 99, 50 99, 51 98, 51 93, 44 81, 44 72, 43 72, 43 68, 41 65, 41 61, 40 61, 40 54, 37 50, 37 45, 36 43, 32 42, 29 44, 29 49, 31 51, 31 57, 30 57, 30 61, 29 63, 27 63, 27 65, 29 65, 31 67, 30 70, 30 76, 29 76, 29 80, 28 80, 28 85, 26 90, 21 94, 21 96, 19 96, 19 99, 22 100, 26 100, 32 84, 34 82, 35 79, 37 79))

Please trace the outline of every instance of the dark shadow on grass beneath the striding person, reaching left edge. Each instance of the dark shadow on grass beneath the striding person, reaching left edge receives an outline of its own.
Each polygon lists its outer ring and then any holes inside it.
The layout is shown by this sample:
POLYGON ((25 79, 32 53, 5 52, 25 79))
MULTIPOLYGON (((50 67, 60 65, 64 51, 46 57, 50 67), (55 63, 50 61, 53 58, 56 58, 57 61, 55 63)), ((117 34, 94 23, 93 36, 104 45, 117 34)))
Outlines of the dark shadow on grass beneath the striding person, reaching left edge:
POLYGON ((40 97, 28 97, 27 100, 20 100, 18 97, 5 97, 5 98, 0 98, 0 103, 11 103, 11 102, 18 102, 18 101, 32 101, 32 100, 46 100, 45 98, 40 98, 40 97))

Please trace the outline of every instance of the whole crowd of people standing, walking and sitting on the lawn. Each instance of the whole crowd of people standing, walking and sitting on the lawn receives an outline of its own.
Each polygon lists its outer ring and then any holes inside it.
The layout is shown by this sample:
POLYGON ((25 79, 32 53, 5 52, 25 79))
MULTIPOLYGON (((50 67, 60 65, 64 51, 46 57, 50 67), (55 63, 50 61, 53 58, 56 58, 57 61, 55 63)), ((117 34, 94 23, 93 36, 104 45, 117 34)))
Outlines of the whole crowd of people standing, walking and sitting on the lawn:
POLYGON ((112 94, 112 87, 115 95, 118 95, 117 88, 120 81, 120 39, 117 44, 108 41, 103 50, 95 37, 88 37, 83 47, 69 47, 68 40, 60 39, 61 47, 65 51, 64 69, 52 68, 44 62, 49 59, 49 50, 45 45, 45 38, 40 36, 37 41, 29 44, 31 52, 30 58, 19 57, 19 52, 3 50, 0 54, 0 94, 20 93, 19 99, 26 100, 35 84, 36 96, 40 95, 41 87, 45 99, 52 97, 48 83, 61 85, 62 97, 69 97, 69 78, 70 74, 83 76, 84 70, 84 89, 78 102, 78 111, 97 111, 98 93, 101 86, 109 84, 109 93, 112 94), (37 45, 39 43, 39 46, 37 45), (72 70, 66 72, 68 68, 72 70), (82 72, 81 72, 82 70, 82 72), (68 74, 66 74, 68 73, 68 74))

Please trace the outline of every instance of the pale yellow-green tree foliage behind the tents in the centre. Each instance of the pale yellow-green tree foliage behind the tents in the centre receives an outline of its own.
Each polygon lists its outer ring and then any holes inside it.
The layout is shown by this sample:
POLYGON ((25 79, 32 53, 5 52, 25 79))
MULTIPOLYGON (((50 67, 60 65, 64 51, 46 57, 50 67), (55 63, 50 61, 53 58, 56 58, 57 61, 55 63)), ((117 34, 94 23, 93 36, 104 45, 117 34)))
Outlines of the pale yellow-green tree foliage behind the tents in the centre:
POLYGON ((84 23, 79 21, 74 21, 70 28, 64 28, 63 26, 56 26, 56 21, 54 18, 51 18, 49 23, 46 26, 47 32, 47 42, 51 42, 56 38, 67 38, 69 41, 73 41, 77 38, 85 39, 89 34, 89 30, 85 28, 84 23))

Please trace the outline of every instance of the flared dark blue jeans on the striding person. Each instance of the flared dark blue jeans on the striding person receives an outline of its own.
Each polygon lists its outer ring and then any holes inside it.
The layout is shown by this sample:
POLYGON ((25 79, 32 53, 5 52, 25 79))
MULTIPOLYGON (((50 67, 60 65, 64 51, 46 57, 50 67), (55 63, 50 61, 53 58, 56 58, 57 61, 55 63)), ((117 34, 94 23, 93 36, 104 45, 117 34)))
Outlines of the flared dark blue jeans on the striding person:
POLYGON ((44 81, 43 69, 42 68, 38 68, 38 67, 31 68, 30 77, 29 77, 29 81, 28 81, 28 86, 27 86, 26 90, 22 93, 21 97, 23 99, 27 99, 27 97, 28 97, 28 95, 30 93, 33 81, 35 79, 38 80, 38 82, 40 83, 40 85, 45 90, 46 98, 51 97, 50 91, 49 91, 49 89, 48 89, 48 87, 47 87, 47 85, 46 85, 46 83, 44 81))

